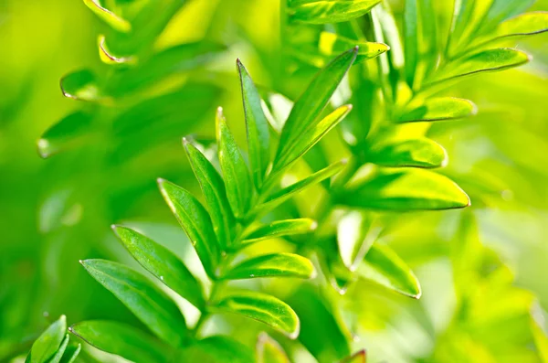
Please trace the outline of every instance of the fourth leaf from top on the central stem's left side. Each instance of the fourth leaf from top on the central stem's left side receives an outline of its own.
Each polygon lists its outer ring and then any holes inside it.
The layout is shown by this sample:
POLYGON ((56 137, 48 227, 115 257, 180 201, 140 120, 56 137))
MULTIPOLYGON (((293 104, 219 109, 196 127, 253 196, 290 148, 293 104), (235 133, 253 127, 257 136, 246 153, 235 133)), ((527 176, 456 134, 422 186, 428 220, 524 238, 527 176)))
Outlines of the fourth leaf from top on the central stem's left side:
POLYGON ((158 179, 158 186, 167 205, 195 247, 205 272, 215 278, 219 251, 209 214, 200 202, 182 187, 163 179, 158 179))

